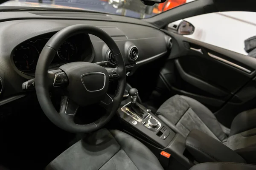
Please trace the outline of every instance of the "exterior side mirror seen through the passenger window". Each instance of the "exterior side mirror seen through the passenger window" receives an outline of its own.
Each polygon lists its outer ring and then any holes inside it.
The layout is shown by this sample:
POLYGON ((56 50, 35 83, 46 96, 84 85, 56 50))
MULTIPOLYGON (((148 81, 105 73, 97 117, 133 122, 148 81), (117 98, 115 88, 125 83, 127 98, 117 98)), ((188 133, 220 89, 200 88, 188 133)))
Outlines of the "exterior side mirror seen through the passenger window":
POLYGON ((174 31, 180 35, 191 35, 195 31, 195 27, 185 20, 178 20, 168 24, 168 31, 174 31))

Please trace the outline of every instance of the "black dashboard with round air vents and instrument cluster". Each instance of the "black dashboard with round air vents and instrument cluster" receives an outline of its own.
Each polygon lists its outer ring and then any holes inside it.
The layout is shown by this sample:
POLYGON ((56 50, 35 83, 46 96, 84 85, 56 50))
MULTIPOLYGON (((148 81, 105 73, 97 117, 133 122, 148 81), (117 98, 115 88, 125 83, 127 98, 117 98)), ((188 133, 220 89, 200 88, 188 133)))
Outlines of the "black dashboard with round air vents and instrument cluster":
MULTIPOLYGON (((171 37, 134 18, 89 12, 3 12, 0 16, 0 102, 24 94, 21 85, 35 77, 44 45, 56 32, 74 24, 97 26, 107 32, 122 53, 127 76, 141 65, 167 57, 172 48, 171 37)), ((115 67, 105 42, 91 34, 76 34, 58 48, 49 70, 68 62, 107 60, 115 67)))

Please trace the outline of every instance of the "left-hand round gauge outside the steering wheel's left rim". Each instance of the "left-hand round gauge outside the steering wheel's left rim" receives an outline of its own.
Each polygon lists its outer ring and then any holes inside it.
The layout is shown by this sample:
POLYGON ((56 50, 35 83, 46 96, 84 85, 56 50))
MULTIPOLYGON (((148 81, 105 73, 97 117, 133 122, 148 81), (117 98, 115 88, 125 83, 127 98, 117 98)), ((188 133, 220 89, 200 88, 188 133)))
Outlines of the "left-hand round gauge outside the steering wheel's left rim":
POLYGON ((15 66, 20 71, 31 71, 35 69, 38 58, 38 50, 28 43, 18 45, 13 55, 15 66))

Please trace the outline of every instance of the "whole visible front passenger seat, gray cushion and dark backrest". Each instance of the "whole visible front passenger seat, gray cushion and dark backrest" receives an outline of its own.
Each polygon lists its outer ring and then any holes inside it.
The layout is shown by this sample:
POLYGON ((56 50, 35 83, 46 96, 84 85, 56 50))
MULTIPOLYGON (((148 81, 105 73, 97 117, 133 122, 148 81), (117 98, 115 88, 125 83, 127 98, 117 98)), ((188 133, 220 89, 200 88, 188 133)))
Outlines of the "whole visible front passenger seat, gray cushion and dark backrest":
POLYGON ((191 130, 197 129, 232 150, 256 144, 256 109, 239 113, 232 122, 229 135, 224 133, 220 123, 207 107, 187 96, 175 95, 166 100, 156 115, 160 119, 168 119, 169 126, 177 128, 185 137, 191 130))

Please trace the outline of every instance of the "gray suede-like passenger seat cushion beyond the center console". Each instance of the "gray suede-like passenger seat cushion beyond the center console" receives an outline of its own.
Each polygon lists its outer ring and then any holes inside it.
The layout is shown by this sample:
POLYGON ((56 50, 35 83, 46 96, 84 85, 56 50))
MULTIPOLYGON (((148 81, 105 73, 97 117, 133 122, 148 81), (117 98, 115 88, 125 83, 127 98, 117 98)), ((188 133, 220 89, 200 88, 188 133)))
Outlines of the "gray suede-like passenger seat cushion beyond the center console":
POLYGON ((157 115, 163 115, 187 136, 193 129, 221 141, 227 141, 227 135, 213 113, 200 102, 187 96, 175 95, 166 100, 157 110, 157 115))

